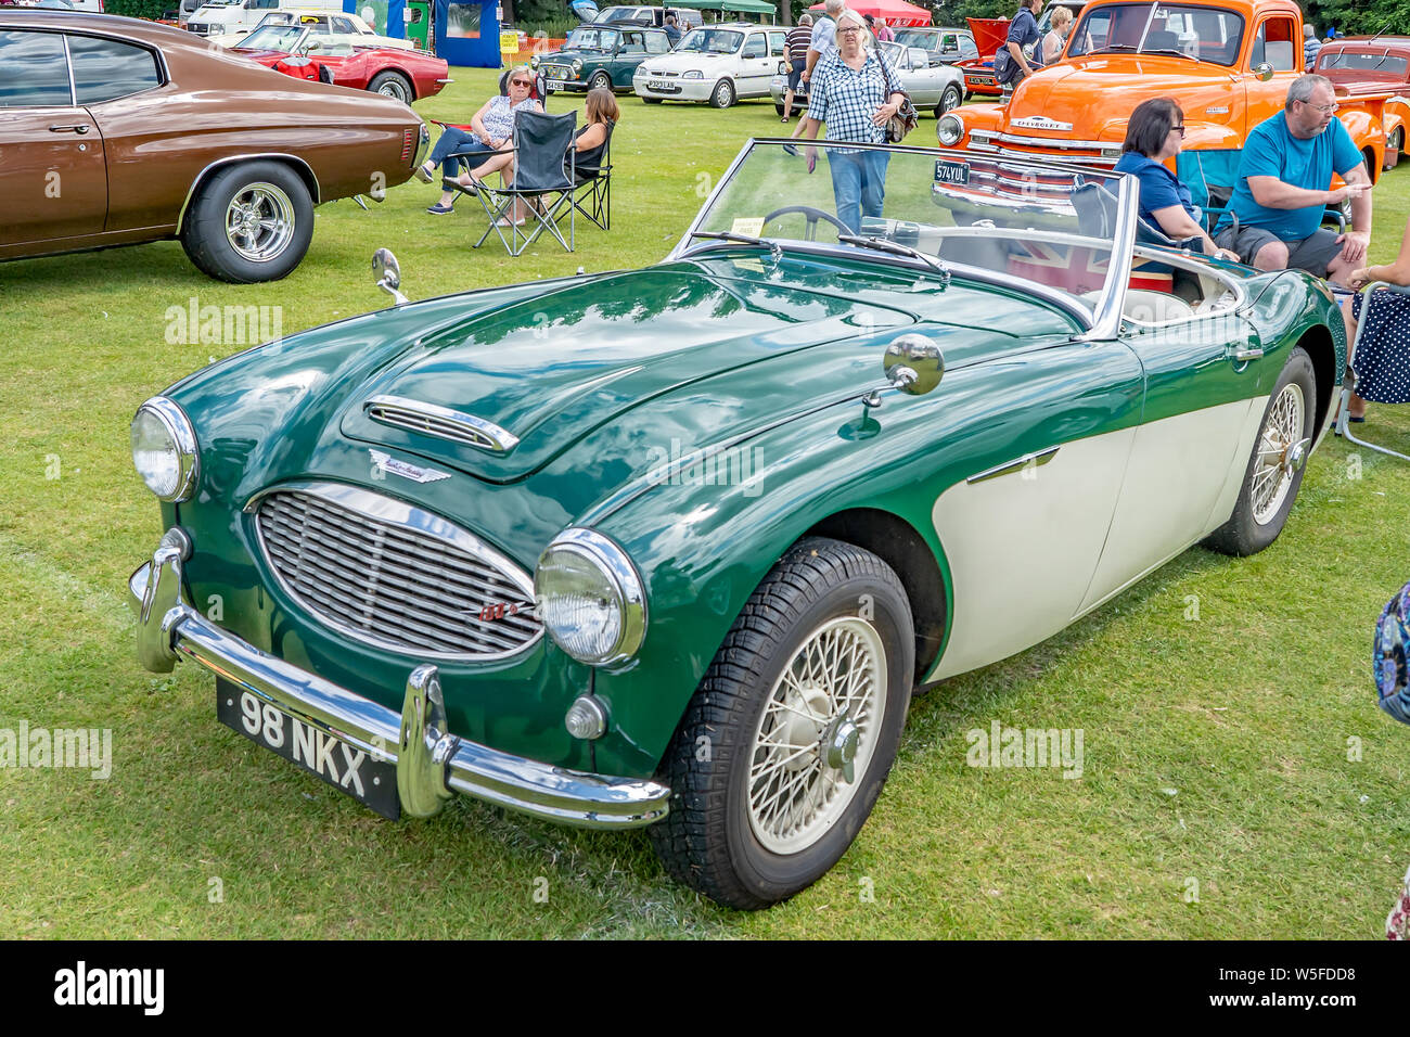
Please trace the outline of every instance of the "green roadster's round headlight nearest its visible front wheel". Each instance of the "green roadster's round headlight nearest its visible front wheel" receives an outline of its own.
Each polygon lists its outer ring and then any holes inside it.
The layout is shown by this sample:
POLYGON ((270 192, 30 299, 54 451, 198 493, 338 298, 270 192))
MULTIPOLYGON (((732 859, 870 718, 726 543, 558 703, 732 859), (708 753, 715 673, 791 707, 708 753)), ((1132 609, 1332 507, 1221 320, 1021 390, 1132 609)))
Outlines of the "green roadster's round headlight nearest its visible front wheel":
POLYGON ((548 636, 578 662, 615 663, 642 646, 642 580, 626 553, 601 533, 558 533, 539 557, 533 588, 548 636))

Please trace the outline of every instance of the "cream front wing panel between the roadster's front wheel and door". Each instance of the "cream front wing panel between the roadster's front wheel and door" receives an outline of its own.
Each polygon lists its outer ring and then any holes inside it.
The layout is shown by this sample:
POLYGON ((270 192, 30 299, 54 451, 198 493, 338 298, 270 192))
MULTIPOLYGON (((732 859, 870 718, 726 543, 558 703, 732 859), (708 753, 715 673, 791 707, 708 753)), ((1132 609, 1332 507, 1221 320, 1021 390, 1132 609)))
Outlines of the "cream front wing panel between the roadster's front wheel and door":
POLYGON ((955 626, 928 680, 1005 659, 1066 626, 1107 539, 1136 430, 1063 443, 1050 461, 940 494, 955 626))

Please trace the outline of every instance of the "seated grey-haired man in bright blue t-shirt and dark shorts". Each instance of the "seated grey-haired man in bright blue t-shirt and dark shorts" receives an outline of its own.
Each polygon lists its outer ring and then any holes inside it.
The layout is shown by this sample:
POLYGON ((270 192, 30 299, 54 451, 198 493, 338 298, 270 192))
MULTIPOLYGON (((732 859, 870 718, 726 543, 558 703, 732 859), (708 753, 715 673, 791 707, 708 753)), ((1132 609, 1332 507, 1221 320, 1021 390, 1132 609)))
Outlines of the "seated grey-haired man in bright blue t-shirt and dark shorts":
POLYGON ((1253 127, 1238 164, 1230 210, 1214 241, 1259 269, 1296 267, 1345 284, 1371 241, 1371 176, 1325 76, 1299 76, 1283 111, 1253 127), (1337 172, 1347 183, 1328 190, 1337 172), (1330 205, 1351 199, 1354 230, 1321 227, 1330 205))

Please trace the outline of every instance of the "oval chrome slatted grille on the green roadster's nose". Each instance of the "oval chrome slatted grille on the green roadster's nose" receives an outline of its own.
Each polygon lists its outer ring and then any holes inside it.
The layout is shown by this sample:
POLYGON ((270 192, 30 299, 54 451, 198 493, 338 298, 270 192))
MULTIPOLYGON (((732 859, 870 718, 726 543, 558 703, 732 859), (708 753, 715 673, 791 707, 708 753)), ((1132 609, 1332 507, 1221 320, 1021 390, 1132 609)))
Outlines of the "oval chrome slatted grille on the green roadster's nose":
POLYGON ((484 660, 543 633, 529 576, 439 515, 338 484, 279 490, 251 508, 283 590, 358 641, 484 660))

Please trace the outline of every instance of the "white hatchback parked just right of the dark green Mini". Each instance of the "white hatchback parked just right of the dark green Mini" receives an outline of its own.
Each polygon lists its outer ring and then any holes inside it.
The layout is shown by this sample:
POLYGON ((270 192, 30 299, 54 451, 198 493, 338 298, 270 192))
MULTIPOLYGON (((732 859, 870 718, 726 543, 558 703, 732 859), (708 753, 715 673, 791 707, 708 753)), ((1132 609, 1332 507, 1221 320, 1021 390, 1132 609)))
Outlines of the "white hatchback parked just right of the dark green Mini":
POLYGON ((708 100, 716 109, 740 97, 767 97, 787 34, 778 25, 749 23, 692 28, 670 54, 637 65, 632 89, 649 104, 708 100))

